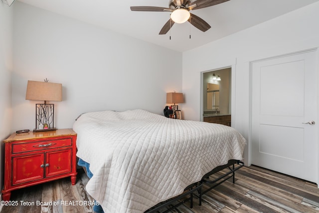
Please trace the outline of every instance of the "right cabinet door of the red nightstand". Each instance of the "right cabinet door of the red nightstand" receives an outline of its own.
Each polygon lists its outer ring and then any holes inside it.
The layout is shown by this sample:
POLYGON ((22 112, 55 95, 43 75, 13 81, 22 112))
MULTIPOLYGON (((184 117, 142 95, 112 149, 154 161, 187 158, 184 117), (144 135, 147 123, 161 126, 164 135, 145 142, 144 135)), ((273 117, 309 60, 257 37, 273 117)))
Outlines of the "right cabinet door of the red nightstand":
POLYGON ((72 149, 46 152, 45 177, 51 177, 71 172, 72 149))

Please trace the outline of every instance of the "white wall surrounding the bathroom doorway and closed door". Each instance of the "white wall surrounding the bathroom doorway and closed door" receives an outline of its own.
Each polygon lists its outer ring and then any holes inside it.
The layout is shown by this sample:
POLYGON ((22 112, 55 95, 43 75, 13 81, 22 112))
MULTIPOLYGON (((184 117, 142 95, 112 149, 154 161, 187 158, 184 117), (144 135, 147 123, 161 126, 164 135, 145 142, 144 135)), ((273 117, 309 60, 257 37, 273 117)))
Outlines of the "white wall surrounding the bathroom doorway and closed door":
MULTIPOLYGON (((183 53, 184 118, 200 120, 200 72, 232 65, 232 126, 248 140, 249 62, 319 46, 319 2, 183 53), (193 63, 196 61, 196 63, 193 63)), ((245 149, 245 161, 248 160, 245 149)), ((247 162, 245 162, 247 163, 247 162)))

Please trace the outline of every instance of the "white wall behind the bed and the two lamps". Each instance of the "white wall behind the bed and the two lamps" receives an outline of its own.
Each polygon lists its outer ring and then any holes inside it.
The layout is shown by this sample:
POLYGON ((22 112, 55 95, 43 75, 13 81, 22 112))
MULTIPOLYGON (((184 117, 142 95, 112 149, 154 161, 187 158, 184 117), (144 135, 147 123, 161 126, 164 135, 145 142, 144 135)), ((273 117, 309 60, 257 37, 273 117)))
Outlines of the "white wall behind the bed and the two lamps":
POLYGON ((40 101, 25 100, 27 80, 62 83, 63 101, 48 102, 59 129, 88 111, 162 114, 166 92, 181 92, 180 52, 19 1, 14 6, 11 131, 35 128, 40 101))

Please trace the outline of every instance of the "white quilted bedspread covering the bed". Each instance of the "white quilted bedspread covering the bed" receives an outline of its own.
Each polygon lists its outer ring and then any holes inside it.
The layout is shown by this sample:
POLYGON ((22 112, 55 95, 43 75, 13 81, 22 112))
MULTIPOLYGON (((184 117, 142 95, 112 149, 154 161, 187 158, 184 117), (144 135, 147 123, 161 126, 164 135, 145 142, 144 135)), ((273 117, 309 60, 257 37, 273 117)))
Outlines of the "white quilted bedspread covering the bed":
POLYGON ((144 212, 213 168, 241 160, 245 139, 231 127, 145 110, 80 116, 77 156, 90 163, 87 192, 105 213, 144 212))

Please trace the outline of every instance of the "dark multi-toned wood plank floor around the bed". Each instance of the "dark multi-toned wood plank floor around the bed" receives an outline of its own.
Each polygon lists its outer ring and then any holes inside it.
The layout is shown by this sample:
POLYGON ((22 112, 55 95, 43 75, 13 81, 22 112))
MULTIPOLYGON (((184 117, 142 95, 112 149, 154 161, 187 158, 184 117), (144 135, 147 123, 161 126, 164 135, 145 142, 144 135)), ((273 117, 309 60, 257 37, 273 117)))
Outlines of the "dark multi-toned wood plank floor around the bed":
MULTIPOLYGON (((13 191, 11 201, 18 205, 1 206, 0 213, 92 213, 92 207, 85 205, 93 200, 85 191, 88 178, 82 170, 78 173, 75 186, 65 178, 13 191), (40 201, 43 203, 36 203, 40 201)), ((263 168, 243 167, 236 172, 235 184, 226 181, 211 190, 203 196, 202 206, 195 198, 192 209, 187 202, 173 212, 319 213, 319 189, 316 184, 263 168)))

